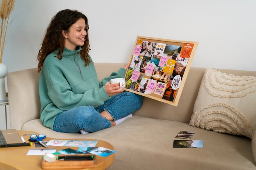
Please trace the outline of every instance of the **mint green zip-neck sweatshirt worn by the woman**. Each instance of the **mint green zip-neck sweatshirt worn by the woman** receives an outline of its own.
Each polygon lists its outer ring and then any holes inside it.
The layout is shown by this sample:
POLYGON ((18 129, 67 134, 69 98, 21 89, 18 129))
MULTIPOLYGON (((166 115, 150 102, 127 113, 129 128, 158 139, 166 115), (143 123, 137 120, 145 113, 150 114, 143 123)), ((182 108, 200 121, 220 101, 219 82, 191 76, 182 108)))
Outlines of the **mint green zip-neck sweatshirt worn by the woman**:
MULTIPOLYGON (((110 97, 104 85, 112 78, 124 77, 126 70, 120 68, 110 77, 98 81, 93 62, 85 66, 79 52, 64 49, 59 60, 58 50, 47 55, 40 72, 39 95, 41 102, 41 121, 53 129, 54 120, 59 113, 77 106, 101 106, 110 97)), ((92 61, 92 59, 91 59, 92 61)))

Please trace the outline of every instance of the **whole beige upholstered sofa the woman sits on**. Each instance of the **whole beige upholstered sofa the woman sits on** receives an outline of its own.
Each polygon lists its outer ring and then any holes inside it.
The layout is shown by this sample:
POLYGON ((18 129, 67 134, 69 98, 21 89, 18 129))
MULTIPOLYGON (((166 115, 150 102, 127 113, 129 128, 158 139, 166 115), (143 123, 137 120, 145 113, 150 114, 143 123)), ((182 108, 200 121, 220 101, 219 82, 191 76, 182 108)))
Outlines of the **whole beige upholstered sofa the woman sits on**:
MULTIPOLYGON (((125 64, 95 64, 99 79, 125 64)), ((111 170, 256 170, 256 130, 247 137, 189 126, 206 68, 191 68, 177 107, 144 97, 142 108, 118 126, 88 135, 59 133, 40 121, 39 74, 36 68, 8 73, 11 128, 31 130, 52 138, 100 139, 117 151, 111 170), (203 148, 173 148, 180 131, 193 131, 203 148)), ((234 75, 253 71, 220 70, 234 75)), ((255 120, 256 121, 256 120, 255 120)))

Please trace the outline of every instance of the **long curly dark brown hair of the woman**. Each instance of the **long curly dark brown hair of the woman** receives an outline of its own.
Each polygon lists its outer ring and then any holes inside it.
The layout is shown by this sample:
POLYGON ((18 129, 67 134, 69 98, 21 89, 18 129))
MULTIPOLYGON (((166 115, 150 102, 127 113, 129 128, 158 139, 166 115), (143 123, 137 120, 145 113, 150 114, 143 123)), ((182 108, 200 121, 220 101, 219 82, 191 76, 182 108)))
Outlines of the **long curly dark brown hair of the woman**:
POLYGON ((72 26, 72 24, 74 24, 80 18, 83 18, 85 20, 85 31, 87 32, 87 35, 85 36, 85 43, 82 46, 80 54, 85 61, 85 66, 88 66, 88 64, 91 62, 88 55, 90 50, 88 38, 88 19, 83 13, 79 11, 65 9, 56 13, 56 15, 49 23, 49 26, 47 27, 42 47, 37 55, 38 73, 41 71, 43 62, 45 61, 47 55, 52 53, 53 51, 59 49, 58 56, 56 57, 58 57, 59 60, 62 59, 62 53, 65 45, 65 38, 63 37, 62 31, 68 31, 70 29, 70 26, 72 26))

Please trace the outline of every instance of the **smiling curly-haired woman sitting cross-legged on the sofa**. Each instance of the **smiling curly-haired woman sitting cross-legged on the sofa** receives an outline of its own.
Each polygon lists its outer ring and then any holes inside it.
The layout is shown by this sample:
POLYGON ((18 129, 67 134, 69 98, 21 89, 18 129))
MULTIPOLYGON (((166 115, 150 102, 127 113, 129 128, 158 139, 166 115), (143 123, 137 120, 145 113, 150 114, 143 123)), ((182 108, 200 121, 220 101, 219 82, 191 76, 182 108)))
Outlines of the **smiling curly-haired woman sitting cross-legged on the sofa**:
POLYGON ((141 96, 123 92, 119 83, 109 82, 124 77, 128 65, 98 81, 88 54, 88 29, 88 19, 82 13, 59 11, 52 18, 38 53, 41 121, 57 132, 109 128, 142 105, 141 96))

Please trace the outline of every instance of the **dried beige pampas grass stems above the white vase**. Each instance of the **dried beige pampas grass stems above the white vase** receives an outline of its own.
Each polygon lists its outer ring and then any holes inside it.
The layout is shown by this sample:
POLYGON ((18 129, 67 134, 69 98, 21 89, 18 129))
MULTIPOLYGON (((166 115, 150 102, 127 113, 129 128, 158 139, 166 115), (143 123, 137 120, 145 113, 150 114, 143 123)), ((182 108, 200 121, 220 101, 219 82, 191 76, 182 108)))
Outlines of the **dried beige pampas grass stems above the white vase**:
POLYGON ((4 51, 4 42, 5 42, 5 36, 8 28, 9 15, 13 10, 14 3, 15 3, 15 0, 2 0, 2 3, 0 5, 0 17, 2 19, 1 35, 0 35, 0 63, 2 63, 2 55, 4 51))

